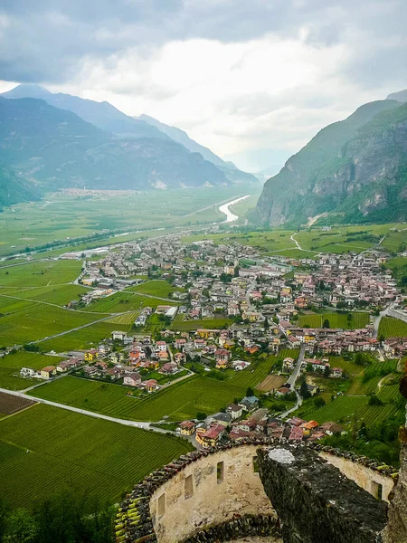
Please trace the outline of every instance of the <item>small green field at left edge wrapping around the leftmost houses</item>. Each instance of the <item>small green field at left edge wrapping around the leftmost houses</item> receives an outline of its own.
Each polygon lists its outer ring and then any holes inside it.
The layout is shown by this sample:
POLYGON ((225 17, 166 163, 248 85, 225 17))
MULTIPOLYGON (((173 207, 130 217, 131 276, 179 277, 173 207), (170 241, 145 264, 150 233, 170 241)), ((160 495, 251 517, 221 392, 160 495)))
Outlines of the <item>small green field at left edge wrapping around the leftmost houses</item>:
POLYGON ((46 357, 45 355, 25 351, 6 355, 0 358, 0 388, 23 390, 28 386, 38 385, 41 383, 39 379, 21 377, 20 369, 22 367, 31 367, 38 370, 50 366, 50 364, 58 364, 61 360, 63 360, 62 357, 46 357))

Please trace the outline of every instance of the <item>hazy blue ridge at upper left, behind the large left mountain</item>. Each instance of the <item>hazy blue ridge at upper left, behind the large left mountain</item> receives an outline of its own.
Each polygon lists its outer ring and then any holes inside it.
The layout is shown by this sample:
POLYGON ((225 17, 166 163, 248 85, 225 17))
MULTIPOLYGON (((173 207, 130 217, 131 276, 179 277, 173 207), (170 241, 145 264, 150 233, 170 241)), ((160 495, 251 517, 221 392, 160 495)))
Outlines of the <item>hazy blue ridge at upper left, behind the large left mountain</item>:
POLYGON ((90 122, 95 127, 120 136, 169 139, 161 130, 156 129, 144 120, 125 115, 107 101, 85 100, 79 98, 79 96, 71 96, 71 94, 63 94, 62 92, 53 94, 39 85, 30 84, 18 85, 14 89, 0 94, 0 96, 14 99, 37 98, 45 100, 54 108, 72 111, 80 119, 90 122))

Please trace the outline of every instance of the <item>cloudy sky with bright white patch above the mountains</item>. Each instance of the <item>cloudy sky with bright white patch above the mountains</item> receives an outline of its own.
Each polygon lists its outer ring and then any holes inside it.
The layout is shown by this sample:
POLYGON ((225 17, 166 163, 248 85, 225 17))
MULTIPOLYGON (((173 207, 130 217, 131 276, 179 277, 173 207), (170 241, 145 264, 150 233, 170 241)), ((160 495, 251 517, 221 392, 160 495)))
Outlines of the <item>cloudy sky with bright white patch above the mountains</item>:
POLYGON ((0 91, 108 100, 275 173, 407 88, 406 27, 405 0, 1 0, 0 91))

